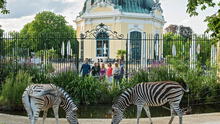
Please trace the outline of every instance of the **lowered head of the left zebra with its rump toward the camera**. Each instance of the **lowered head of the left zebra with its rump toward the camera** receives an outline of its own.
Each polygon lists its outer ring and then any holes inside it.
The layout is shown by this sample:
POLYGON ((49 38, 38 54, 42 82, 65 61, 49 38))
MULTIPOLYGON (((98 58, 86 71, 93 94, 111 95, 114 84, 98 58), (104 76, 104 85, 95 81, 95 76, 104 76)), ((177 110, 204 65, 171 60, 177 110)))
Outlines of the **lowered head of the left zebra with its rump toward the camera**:
POLYGON ((74 107, 66 114, 66 118, 67 118, 67 121, 69 122, 69 124, 79 124, 77 116, 76 116, 77 110, 78 110, 78 108, 74 107))

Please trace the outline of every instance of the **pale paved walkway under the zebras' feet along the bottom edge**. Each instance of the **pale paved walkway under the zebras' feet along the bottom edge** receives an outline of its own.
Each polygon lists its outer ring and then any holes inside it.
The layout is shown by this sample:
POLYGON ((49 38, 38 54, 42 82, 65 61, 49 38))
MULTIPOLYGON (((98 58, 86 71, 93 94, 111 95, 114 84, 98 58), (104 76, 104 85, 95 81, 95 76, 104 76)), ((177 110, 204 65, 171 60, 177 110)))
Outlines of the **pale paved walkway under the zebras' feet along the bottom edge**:
MULTIPOLYGON (((170 117, 153 118, 154 124, 167 124, 170 117)), ((220 124, 220 113, 186 115, 183 124, 220 124)), ((80 124, 111 124, 111 119, 79 119, 80 124)), ((0 113, 0 124, 28 124, 25 116, 8 115, 0 113)), ((42 124, 42 118, 37 124, 42 124)), ((45 124, 55 124, 54 118, 47 118, 45 124)), ((68 124, 66 119, 60 119, 60 124, 68 124)), ((123 119, 120 124, 136 124, 136 119, 123 119)), ((149 120, 141 118, 140 124, 149 124, 149 120)), ((175 117, 173 124, 178 124, 178 117, 175 117)))

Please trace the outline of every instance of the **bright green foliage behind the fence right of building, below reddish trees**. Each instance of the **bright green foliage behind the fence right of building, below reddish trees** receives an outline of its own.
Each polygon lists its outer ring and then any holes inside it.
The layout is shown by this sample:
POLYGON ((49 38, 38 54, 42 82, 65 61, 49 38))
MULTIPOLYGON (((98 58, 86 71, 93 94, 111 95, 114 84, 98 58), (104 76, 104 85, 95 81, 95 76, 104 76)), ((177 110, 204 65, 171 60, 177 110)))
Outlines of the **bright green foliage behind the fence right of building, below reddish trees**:
MULTIPOLYGON (((210 62, 211 57, 211 46, 213 45, 213 39, 203 35, 203 36, 195 36, 196 45, 200 45, 199 53, 197 54, 198 64, 201 66, 210 66, 208 62, 210 62)), ((179 62, 186 62, 188 63, 190 60, 190 45, 192 44, 192 39, 186 39, 182 36, 173 34, 173 33, 166 33, 164 34, 164 57, 169 61, 180 60, 179 62), (176 56, 173 57, 172 55, 172 46, 175 45, 176 47, 176 56)), ((196 48, 197 48, 196 46, 196 48)), ((172 63, 172 64, 175 64, 172 63)), ((175 65, 175 66, 178 66, 175 65)))

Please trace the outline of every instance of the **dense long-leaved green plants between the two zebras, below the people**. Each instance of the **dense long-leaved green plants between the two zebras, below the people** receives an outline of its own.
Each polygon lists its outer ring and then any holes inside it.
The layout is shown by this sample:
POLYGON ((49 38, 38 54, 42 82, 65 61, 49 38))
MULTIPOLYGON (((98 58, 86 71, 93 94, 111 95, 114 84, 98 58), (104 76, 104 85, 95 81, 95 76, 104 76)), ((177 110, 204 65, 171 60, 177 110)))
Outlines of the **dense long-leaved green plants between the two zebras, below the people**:
POLYGON ((64 72, 52 79, 52 82, 65 89, 81 104, 103 103, 107 96, 107 84, 93 77, 80 77, 75 72, 64 72))

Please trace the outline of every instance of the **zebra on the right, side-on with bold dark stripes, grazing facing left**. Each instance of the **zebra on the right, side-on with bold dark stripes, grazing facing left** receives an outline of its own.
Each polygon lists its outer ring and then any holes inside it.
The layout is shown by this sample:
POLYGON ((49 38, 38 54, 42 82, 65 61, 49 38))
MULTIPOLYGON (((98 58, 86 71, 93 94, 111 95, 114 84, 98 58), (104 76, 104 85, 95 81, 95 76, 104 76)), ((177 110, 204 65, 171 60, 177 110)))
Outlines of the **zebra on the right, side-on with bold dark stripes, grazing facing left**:
POLYGON ((182 124, 183 112, 180 109, 179 104, 184 92, 189 92, 187 85, 185 83, 181 83, 180 85, 174 81, 137 84, 124 91, 115 104, 112 105, 112 124, 119 124, 123 118, 124 110, 131 104, 137 105, 137 124, 139 124, 139 117, 142 108, 146 111, 150 123, 153 124, 149 106, 162 106, 166 103, 170 104, 171 109, 171 119, 169 124, 172 123, 175 114, 179 116, 179 124, 182 124))

